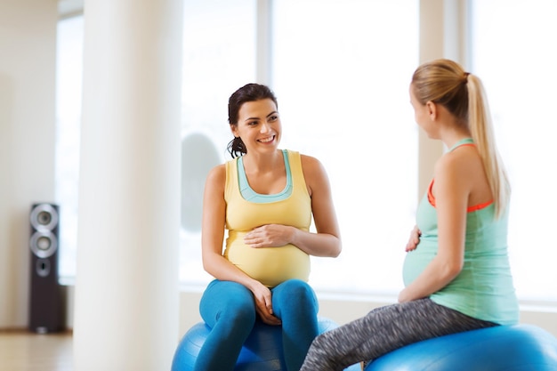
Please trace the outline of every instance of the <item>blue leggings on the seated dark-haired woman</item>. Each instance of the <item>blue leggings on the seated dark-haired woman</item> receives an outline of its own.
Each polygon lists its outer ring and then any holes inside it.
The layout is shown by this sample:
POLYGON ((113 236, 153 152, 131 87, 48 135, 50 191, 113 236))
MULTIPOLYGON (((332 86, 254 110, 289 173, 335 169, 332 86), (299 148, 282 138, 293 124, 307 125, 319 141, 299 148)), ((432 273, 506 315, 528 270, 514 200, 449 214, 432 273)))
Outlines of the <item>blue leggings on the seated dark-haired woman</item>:
MULTIPOLYGON (((311 286, 299 279, 289 279, 270 291, 273 313, 282 320, 287 369, 298 371, 319 334, 317 297, 311 286)), ((207 286, 199 311, 211 332, 199 351, 194 371, 232 371, 257 317, 252 292, 236 282, 215 279, 207 286)))

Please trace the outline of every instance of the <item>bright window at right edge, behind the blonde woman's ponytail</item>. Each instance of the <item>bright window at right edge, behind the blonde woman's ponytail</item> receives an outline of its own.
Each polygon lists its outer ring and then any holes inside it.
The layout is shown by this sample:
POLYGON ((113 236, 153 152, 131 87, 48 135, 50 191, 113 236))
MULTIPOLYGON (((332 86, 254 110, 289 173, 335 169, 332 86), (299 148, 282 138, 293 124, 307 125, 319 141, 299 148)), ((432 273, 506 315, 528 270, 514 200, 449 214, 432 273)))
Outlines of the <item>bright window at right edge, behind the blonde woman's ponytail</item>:
POLYGON ((509 254, 517 294, 557 301, 557 3, 472 2, 472 72, 482 79, 513 187, 509 254))

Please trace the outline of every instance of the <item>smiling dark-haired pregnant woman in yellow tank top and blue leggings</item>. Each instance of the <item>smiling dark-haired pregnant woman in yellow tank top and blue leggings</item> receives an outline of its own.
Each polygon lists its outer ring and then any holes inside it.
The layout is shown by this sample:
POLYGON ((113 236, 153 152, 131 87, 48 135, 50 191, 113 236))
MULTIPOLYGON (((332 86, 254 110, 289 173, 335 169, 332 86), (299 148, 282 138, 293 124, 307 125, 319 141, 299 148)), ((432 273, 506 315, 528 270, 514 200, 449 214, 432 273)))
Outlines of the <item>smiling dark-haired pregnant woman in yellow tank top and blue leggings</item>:
POLYGON ((248 84, 233 93, 229 123, 233 159, 206 179, 202 254, 215 279, 199 305, 211 333, 194 369, 233 370, 262 320, 282 325, 287 368, 297 371, 319 333, 310 255, 341 252, 327 173, 314 157, 278 149, 282 126, 269 87, 248 84))

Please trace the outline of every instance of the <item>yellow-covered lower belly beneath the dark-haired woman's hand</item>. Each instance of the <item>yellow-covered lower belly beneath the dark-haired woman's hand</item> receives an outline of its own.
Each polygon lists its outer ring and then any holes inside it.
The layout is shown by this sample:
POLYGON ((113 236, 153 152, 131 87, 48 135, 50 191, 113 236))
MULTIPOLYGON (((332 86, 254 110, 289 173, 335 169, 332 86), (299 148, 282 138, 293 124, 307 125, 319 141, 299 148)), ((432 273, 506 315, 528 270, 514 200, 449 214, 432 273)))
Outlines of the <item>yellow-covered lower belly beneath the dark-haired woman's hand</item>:
POLYGON ((287 279, 307 281, 310 278, 310 256, 294 245, 253 248, 238 242, 226 248, 224 257, 268 287, 287 279))

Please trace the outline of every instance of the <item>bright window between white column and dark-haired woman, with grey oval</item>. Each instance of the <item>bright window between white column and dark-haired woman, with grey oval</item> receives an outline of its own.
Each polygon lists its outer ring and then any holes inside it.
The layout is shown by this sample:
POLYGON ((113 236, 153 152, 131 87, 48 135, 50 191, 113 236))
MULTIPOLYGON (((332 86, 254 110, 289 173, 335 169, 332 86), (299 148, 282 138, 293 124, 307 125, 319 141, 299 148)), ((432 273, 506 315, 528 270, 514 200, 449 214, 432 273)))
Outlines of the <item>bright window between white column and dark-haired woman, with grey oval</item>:
POLYGON ((255 80, 256 2, 212 0, 184 2, 182 172, 182 246, 180 279, 205 285, 211 277, 201 263, 201 208, 206 173, 230 159, 232 139, 228 99, 255 80), (190 146, 202 141, 203 146, 190 146), (193 149, 199 149, 194 153, 193 149))

